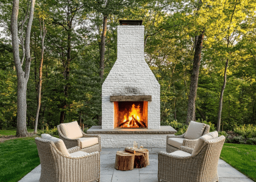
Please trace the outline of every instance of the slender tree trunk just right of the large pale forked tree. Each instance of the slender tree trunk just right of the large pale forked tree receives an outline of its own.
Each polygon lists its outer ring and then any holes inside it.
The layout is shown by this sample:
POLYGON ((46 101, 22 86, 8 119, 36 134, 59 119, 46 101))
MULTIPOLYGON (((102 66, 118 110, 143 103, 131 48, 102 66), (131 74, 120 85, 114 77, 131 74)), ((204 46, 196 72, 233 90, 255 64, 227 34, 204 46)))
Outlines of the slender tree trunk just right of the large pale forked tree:
POLYGON ((46 36, 47 30, 44 28, 44 20, 43 20, 43 35, 42 35, 42 27, 40 22, 40 30, 41 30, 41 61, 39 66, 39 82, 38 82, 38 100, 37 100, 37 114, 35 116, 35 129, 34 133, 37 133, 37 124, 38 124, 38 116, 41 107, 41 87, 42 87, 42 69, 43 69, 43 54, 44 54, 44 38, 46 36))

